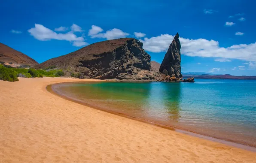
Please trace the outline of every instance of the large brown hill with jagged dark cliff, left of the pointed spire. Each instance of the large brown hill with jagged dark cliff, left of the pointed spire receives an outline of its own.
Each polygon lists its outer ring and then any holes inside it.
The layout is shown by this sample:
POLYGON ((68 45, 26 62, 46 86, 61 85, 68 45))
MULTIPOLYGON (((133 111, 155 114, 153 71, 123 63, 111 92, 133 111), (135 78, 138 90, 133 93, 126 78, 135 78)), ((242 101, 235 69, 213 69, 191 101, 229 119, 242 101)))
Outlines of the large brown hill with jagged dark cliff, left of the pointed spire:
POLYGON ((151 57, 142 46, 142 42, 133 38, 96 42, 34 68, 56 66, 70 74, 80 73, 81 78, 160 80, 160 75, 151 71, 151 57))

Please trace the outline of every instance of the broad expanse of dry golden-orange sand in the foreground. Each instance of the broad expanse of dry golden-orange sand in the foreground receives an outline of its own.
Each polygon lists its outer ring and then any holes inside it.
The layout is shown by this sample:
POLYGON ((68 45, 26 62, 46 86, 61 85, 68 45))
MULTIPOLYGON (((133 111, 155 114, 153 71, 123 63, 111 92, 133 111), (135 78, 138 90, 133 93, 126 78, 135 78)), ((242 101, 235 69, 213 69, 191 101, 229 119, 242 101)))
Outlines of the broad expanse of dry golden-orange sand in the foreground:
POLYGON ((255 163, 256 153, 64 100, 72 78, 0 81, 0 163, 255 163))

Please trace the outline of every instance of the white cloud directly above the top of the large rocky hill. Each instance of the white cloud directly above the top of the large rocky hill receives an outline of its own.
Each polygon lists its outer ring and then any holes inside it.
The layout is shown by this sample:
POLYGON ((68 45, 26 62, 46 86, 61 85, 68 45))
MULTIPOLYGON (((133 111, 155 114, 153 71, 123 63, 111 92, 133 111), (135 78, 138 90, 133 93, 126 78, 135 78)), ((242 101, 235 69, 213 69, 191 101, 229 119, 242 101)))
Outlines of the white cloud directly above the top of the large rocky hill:
MULTIPOLYGON (((98 27, 98 26, 96 26, 96 27, 98 28, 98 31, 101 29, 101 27, 98 27)), ((103 29, 101 29, 101 30, 103 31, 103 29)), ((109 39, 119 39, 119 38, 126 37, 126 36, 130 35, 129 33, 125 33, 122 30, 119 30, 116 28, 113 28, 112 30, 107 30, 106 33, 99 33, 98 31, 95 30, 95 27, 93 30, 93 26, 91 26, 91 29, 89 31, 93 31, 89 35, 89 36, 91 36, 91 38, 106 38, 108 40, 109 39)))

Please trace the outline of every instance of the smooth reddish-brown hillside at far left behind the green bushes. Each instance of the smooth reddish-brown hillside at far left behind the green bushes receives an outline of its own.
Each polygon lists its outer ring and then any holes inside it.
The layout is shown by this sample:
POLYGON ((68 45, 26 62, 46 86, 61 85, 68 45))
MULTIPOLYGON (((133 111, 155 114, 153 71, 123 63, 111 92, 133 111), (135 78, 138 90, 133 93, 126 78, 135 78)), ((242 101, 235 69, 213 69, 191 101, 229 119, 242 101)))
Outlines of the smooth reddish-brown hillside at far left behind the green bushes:
POLYGON ((28 57, 26 54, 4 45, 3 43, 0 43, 0 61, 26 65, 38 64, 37 61, 28 57))

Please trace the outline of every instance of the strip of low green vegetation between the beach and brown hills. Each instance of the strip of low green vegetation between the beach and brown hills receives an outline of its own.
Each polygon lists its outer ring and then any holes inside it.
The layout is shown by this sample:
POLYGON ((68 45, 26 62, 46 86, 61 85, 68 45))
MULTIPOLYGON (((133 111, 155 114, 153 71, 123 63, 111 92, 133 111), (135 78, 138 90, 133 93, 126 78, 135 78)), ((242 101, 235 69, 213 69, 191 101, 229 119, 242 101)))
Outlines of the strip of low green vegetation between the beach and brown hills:
POLYGON ((47 77, 64 76, 64 72, 61 69, 52 69, 52 70, 32 69, 32 68, 25 69, 25 68, 14 68, 8 65, 0 64, 0 80, 5 80, 9 82, 18 81, 17 76, 20 73, 26 78, 43 78, 43 76, 47 76, 47 77))

